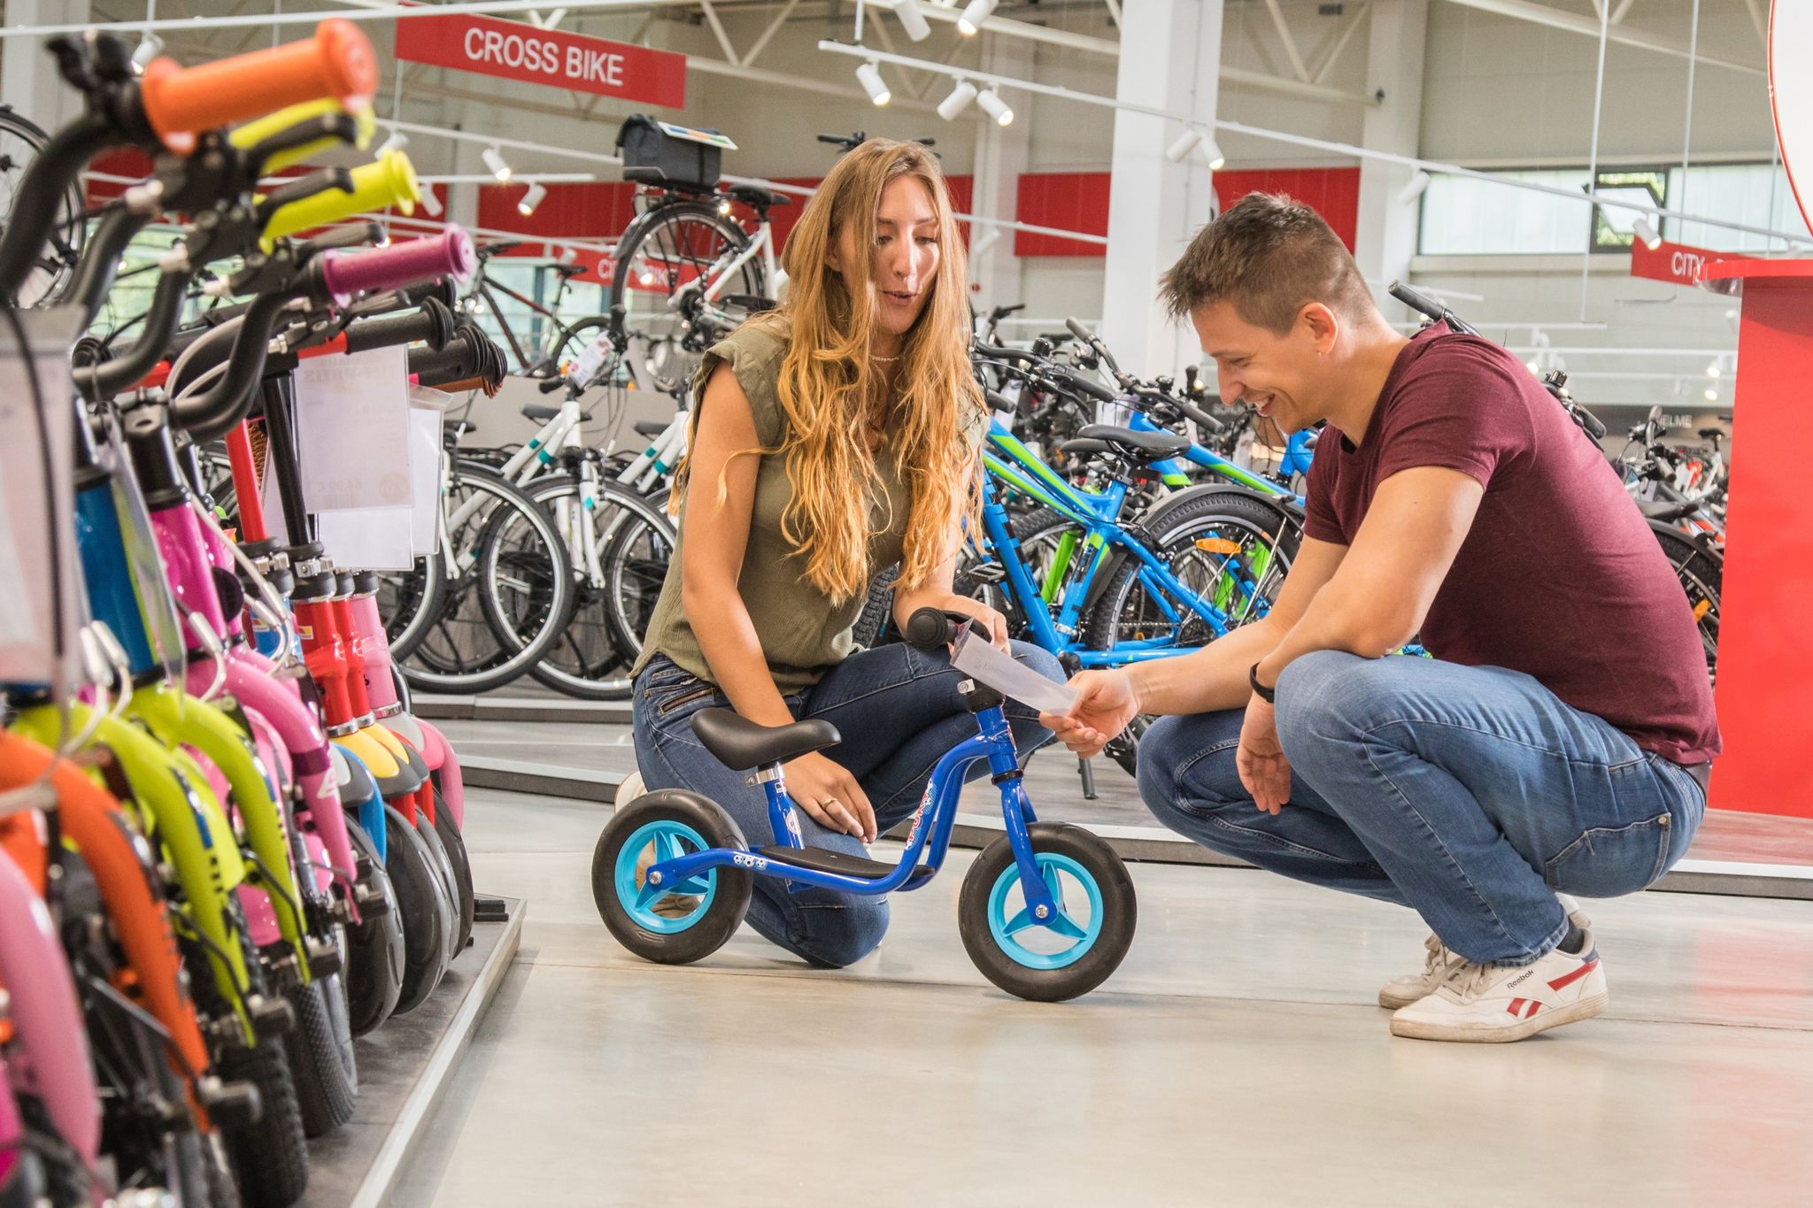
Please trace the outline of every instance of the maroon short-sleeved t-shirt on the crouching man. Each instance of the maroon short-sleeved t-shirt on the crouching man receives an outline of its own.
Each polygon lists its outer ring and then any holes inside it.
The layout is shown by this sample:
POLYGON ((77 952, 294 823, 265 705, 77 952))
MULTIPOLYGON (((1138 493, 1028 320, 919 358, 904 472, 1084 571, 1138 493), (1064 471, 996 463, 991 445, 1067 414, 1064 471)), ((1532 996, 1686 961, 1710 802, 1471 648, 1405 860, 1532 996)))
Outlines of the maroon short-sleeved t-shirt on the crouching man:
POLYGON ((1643 750, 1719 753, 1706 654, 1668 558, 1599 446, 1503 348, 1449 331, 1412 339, 1360 446, 1336 427, 1309 469, 1309 536, 1352 545, 1372 493, 1443 465, 1485 487, 1423 618, 1438 659, 1534 676, 1643 750))

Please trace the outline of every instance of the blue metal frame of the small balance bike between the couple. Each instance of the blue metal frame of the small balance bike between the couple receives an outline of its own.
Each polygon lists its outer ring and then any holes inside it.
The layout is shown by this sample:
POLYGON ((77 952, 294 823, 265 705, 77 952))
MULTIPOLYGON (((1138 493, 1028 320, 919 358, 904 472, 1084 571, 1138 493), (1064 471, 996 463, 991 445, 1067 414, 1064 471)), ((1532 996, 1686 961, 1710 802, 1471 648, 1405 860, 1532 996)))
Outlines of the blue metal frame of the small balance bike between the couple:
MULTIPOLYGON (((1057 904, 1052 900, 1052 891, 1044 884, 1044 877, 1039 875, 1032 839, 1026 833, 1028 824, 1037 822, 1037 819, 1026 797, 1026 786, 1019 777, 1019 757, 1013 748, 1013 733, 1008 730, 1006 712, 999 705, 992 705, 975 714, 975 723, 979 730, 975 737, 968 737, 945 752, 937 766, 932 768, 932 779, 926 781, 919 810, 914 813, 912 831, 906 835, 906 849, 901 853, 901 862, 887 877, 867 880, 841 873, 821 873, 812 868, 790 864, 783 857, 774 855, 774 848, 767 848, 767 855, 731 848, 707 848, 705 851, 653 864, 642 893, 649 900, 665 893, 678 893, 680 889, 676 887, 685 880, 716 868, 743 868, 760 877, 778 877, 800 886, 841 889, 865 896, 919 889, 943 868, 945 857, 950 851, 950 835, 957 824, 957 797, 963 793, 965 773, 970 764, 986 759, 988 770, 995 775, 1001 790, 1001 817, 1006 822, 1008 842, 1013 844, 1021 887, 1026 893, 1026 909, 1037 915, 1042 906, 1046 915, 1037 916, 1055 916, 1057 904), (928 820, 930 826, 926 826, 928 820), (925 864, 919 862, 921 853, 928 855, 925 864)), ((769 822, 780 840, 776 846, 796 851, 803 849, 800 822, 794 817, 792 799, 787 795, 787 782, 780 768, 760 772, 754 779, 761 781, 761 790, 769 801, 769 822)))

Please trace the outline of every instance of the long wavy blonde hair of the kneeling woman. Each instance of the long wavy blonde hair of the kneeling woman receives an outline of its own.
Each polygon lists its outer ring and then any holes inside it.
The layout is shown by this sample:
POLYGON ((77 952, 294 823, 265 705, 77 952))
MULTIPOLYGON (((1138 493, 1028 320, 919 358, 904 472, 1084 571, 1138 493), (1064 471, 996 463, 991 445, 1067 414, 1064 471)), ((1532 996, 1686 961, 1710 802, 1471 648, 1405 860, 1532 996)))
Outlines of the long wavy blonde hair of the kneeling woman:
MULTIPOLYGON (((785 455, 792 500, 781 514, 781 532, 800 547, 805 578, 836 601, 868 587, 868 538, 877 531, 868 523, 876 455, 867 440, 868 400, 885 388, 868 355, 876 326, 874 230, 883 190, 903 176, 925 185, 932 197, 939 264, 925 310, 906 331, 896 393, 881 417, 883 440, 912 500, 899 585, 925 583, 954 552, 952 523, 959 516, 974 522, 981 509, 977 458, 963 427, 966 418, 986 411, 970 368, 968 264, 950 192, 937 159, 923 145, 872 138, 838 161, 787 237, 785 302, 751 319, 789 337, 778 391, 787 435, 778 449, 747 453, 785 455), (848 226, 858 263, 847 268, 865 283, 859 297, 850 295, 845 275, 830 266, 848 226)), ((696 429, 696 417, 693 424, 696 429)), ((676 494, 685 478, 682 465, 676 494)))

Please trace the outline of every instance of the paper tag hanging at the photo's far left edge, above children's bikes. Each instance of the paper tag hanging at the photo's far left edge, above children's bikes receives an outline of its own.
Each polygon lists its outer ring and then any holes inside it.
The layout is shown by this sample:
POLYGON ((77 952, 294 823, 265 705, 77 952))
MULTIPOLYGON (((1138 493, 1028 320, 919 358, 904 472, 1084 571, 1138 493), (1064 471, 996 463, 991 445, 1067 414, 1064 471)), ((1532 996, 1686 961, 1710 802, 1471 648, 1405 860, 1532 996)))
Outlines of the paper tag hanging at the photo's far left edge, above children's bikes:
POLYGON ((74 683, 82 623, 71 451, 69 346, 82 317, 67 306, 15 312, 0 324, 0 681, 74 683), (45 471, 49 467, 49 473, 45 471), (54 551, 54 558, 53 558, 54 551), (53 565, 62 570, 53 583, 53 565), (53 590, 54 589, 54 590, 53 590), (60 605, 60 607, 56 607, 60 605), (62 630, 63 661, 54 645, 62 630))

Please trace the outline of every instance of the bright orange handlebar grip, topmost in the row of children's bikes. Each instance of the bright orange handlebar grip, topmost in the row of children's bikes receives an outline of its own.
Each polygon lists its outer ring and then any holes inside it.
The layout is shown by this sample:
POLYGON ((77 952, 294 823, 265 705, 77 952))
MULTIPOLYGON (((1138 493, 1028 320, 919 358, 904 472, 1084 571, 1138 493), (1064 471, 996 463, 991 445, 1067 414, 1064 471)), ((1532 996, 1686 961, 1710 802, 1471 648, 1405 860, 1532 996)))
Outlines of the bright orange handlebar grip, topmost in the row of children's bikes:
POLYGON ((156 58, 145 67, 140 98, 145 120, 174 152, 196 145, 196 130, 243 121, 274 109, 332 96, 348 109, 370 105, 377 91, 377 54, 352 22, 332 16, 312 38, 181 67, 156 58))

